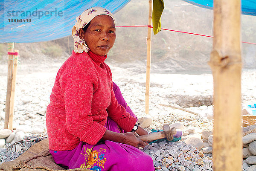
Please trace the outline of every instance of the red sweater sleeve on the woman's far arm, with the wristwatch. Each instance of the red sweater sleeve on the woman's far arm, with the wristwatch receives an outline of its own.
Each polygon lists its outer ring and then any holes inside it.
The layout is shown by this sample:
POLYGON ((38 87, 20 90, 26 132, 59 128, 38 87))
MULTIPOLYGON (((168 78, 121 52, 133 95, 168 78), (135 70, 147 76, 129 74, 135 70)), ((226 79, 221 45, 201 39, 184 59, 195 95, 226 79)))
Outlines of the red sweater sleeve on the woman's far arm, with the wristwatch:
POLYGON ((107 108, 108 116, 116 122, 120 128, 125 130, 125 132, 130 132, 137 122, 137 119, 126 112, 122 105, 118 104, 112 87, 113 82, 111 83, 111 103, 107 108))

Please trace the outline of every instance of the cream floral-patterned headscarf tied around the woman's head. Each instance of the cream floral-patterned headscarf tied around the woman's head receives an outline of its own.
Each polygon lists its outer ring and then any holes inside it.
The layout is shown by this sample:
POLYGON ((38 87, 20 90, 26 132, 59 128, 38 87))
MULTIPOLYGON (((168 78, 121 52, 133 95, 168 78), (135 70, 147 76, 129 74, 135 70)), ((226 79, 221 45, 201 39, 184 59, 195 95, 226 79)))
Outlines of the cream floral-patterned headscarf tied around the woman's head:
POLYGON ((72 36, 74 38, 74 51, 76 53, 82 53, 84 51, 88 52, 90 50, 87 44, 85 43, 85 41, 79 38, 78 31, 80 28, 84 28, 84 26, 86 26, 94 17, 98 15, 109 15, 113 18, 113 21, 115 23, 113 14, 107 9, 96 6, 96 7, 92 7, 90 9, 85 10, 81 15, 76 17, 77 21, 72 29, 72 36))

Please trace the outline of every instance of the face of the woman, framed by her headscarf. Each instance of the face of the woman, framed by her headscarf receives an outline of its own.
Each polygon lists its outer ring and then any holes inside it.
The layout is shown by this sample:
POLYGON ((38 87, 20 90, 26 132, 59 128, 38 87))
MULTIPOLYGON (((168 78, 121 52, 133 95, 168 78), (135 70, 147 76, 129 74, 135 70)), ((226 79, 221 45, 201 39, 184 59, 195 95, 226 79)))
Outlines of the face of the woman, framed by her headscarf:
POLYGON ((116 28, 112 17, 98 15, 90 21, 86 32, 82 33, 90 51, 96 55, 106 55, 116 40, 116 28))

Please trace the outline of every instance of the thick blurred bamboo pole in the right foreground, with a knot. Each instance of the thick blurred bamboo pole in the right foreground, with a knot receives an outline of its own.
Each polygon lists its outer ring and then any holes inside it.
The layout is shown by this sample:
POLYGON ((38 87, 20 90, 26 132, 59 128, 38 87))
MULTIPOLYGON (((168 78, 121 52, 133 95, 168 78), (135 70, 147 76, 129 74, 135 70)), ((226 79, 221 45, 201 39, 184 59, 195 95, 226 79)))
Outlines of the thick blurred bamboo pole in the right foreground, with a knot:
POLYGON ((214 171, 241 171, 240 0, 214 0, 214 171))

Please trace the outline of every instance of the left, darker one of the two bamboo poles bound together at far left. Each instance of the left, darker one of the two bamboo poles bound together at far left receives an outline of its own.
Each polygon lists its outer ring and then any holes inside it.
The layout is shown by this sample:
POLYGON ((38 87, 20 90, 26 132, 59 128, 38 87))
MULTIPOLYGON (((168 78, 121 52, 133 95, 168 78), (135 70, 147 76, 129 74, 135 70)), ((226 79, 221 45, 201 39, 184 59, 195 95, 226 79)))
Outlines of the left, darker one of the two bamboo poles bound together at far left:
MULTIPOLYGON (((13 52, 14 43, 8 43, 8 52, 13 52)), ((8 74, 7 74, 7 92, 6 92, 6 108, 5 108, 5 119, 4 119, 4 129, 9 127, 9 114, 10 114, 10 98, 12 89, 12 58, 13 55, 8 55, 8 74)))

